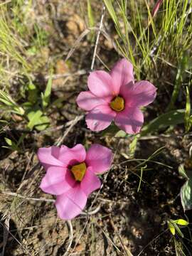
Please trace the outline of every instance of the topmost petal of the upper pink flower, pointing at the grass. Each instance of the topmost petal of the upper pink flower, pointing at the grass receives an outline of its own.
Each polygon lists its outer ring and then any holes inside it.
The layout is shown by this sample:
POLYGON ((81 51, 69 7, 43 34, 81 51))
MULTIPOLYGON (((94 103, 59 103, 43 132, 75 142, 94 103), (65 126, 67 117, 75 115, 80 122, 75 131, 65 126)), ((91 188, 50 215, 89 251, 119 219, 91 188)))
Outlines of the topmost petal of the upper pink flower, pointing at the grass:
POLYGON ((119 88, 127 85, 130 81, 134 81, 133 65, 126 58, 123 58, 114 64, 110 75, 115 86, 115 92, 119 94, 119 88))

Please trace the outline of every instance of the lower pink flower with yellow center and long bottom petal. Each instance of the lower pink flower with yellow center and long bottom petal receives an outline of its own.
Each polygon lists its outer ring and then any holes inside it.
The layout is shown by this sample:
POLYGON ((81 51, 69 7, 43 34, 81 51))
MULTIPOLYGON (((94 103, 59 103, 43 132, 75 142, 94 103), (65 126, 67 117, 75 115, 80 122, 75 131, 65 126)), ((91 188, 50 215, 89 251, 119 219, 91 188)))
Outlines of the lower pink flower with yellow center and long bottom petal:
POLYGON ((79 215, 87 197, 100 188, 102 174, 110 169, 112 151, 92 144, 87 153, 84 146, 50 146, 38 149, 38 159, 46 169, 40 188, 57 196, 55 206, 60 218, 70 220, 79 215))

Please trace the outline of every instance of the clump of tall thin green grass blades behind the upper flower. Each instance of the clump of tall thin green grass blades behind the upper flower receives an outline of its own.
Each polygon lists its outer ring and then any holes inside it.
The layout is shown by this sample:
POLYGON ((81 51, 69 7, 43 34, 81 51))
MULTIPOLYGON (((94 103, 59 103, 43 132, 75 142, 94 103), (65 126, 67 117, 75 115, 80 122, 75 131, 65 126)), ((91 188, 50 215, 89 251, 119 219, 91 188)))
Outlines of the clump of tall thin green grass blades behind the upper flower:
POLYGON ((165 0, 154 18, 148 1, 104 0, 117 31, 119 53, 136 65, 137 79, 160 73, 161 65, 178 65, 191 50, 191 6, 188 0, 165 0), (147 16, 146 16, 147 11, 147 16), (155 67, 154 67, 155 66, 155 67))

